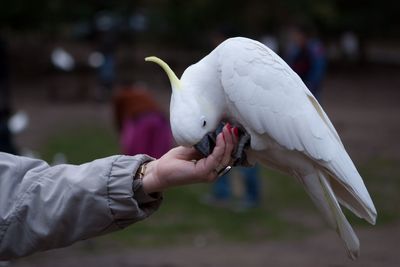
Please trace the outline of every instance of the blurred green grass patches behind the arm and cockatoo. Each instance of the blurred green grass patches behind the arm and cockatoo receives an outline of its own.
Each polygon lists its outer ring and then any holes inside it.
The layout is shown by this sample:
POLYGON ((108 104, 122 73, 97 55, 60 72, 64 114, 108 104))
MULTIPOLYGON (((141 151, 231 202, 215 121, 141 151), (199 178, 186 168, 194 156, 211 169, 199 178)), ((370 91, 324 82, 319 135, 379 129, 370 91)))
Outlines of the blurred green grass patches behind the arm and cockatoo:
MULTIPOLYGON (((55 134, 41 149, 49 161, 63 152, 69 163, 83 163, 118 153, 113 132, 96 126, 85 126, 55 134)), ((379 211, 378 224, 399 219, 400 166, 385 159, 370 160, 360 168, 379 211)), ((169 190, 160 210, 145 222, 114 233, 106 240, 125 245, 166 246, 230 241, 254 242, 271 239, 301 238, 326 229, 301 185, 293 178, 262 169, 263 201, 258 208, 245 212, 210 207, 200 199, 209 185, 195 185, 169 190)), ((351 223, 365 223, 348 214, 351 223)))

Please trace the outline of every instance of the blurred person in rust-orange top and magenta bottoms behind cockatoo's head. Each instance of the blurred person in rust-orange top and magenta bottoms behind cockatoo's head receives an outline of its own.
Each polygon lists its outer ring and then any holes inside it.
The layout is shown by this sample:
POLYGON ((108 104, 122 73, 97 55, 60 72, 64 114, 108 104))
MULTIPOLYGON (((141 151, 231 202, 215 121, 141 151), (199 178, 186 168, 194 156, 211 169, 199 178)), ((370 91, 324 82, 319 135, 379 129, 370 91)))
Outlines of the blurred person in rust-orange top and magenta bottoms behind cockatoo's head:
POLYGON ((146 88, 123 85, 116 92, 113 104, 123 154, 141 153, 159 158, 171 149, 169 121, 146 88))

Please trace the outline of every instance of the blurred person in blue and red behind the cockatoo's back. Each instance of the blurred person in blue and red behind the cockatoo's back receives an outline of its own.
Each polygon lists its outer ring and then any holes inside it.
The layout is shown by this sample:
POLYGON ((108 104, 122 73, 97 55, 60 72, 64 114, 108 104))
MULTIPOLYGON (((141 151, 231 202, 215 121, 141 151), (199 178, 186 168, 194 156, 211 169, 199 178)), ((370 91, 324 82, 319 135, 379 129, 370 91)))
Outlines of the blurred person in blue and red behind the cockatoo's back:
POLYGON ((292 26, 289 35, 284 59, 320 101, 321 85, 326 72, 325 48, 313 35, 313 29, 309 25, 292 26))

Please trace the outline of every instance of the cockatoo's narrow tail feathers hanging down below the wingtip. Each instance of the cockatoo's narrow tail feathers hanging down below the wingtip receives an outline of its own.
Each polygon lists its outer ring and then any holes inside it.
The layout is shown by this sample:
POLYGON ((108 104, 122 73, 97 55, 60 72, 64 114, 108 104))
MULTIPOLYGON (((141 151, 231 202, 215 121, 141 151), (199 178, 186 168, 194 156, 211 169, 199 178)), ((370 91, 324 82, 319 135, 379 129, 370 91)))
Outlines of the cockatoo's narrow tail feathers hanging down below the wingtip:
POLYGON ((360 250, 358 237, 339 206, 328 176, 316 170, 315 173, 301 177, 301 180, 311 199, 343 240, 349 257, 356 259, 360 250))

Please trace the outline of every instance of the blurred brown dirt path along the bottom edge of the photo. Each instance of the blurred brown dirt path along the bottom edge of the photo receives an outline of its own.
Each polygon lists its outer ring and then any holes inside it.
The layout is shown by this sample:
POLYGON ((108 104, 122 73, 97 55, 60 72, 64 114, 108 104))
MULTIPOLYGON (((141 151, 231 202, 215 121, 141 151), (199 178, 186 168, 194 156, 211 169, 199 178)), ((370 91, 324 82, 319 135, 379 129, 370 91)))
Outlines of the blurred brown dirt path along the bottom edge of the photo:
POLYGON ((386 266, 400 264, 398 241, 400 225, 363 228, 360 258, 346 256, 335 233, 327 231, 304 240, 273 241, 258 244, 210 245, 202 248, 125 249, 95 252, 67 248, 42 253, 14 262, 12 266, 134 266, 134 267, 259 267, 259 266, 386 266))

